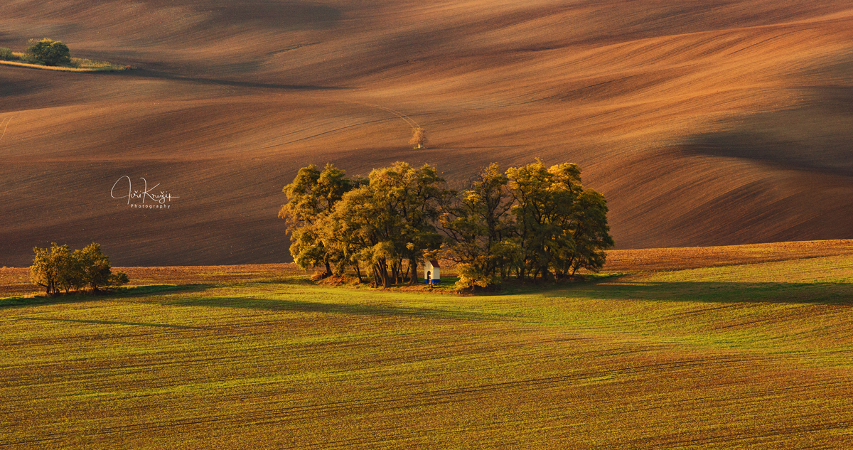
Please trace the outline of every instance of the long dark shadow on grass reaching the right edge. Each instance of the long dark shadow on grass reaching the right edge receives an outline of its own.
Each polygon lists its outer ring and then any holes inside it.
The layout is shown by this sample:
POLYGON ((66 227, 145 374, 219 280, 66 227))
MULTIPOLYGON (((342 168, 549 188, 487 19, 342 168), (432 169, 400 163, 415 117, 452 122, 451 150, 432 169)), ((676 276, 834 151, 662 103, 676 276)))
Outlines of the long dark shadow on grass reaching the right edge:
POLYGON ((543 292, 548 297, 595 300, 645 300, 705 303, 816 303, 853 305, 853 284, 848 282, 745 283, 629 281, 579 284, 543 292))

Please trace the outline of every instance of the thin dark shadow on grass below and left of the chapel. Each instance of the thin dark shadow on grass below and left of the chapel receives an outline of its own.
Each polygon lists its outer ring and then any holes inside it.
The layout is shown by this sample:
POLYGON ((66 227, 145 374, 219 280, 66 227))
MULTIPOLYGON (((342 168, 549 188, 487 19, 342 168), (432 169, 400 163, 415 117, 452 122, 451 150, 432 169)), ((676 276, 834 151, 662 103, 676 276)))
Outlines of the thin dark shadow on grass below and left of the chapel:
POLYGON ((419 317, 445 320, 506 320, 501 314, 479 314, 446 309, 404 308, 363 303, 322 303, 298 300, 275 300, 256 297, 200 297, 164 303, 170 306, 204 306, 215 308, 263 309, 299 313, 353 314, 370 316, 419 317))

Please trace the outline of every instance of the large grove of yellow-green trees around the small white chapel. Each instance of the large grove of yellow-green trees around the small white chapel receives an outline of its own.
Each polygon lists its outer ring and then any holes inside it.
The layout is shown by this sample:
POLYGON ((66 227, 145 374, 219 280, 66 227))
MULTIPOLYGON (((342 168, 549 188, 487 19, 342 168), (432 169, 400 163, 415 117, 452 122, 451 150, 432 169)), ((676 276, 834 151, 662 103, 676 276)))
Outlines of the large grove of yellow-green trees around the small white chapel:
POLYGON ((437 257, 456 262, 460 286, 554 280, 600 269, 613 245, 606 200, 580 174, 538 159, 506 172, 490 164, 454 190, 429 164, 397 162, 367 178, 312 164, 284 187, 279 216, 294 261, 323 276, 351 269, 374 286, 411 285, 418 264, 437 257))

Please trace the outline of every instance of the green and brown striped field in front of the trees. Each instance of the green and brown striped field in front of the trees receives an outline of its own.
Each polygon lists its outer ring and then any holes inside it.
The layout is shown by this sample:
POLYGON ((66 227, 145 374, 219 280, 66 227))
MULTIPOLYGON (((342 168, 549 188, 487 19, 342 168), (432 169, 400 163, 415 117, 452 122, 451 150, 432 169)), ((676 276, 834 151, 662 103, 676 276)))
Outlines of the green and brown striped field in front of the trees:
POLYGON ((851 244, 612 252, 484 297, 290 265, 7 288, 0 447, 850 448, 851 244))

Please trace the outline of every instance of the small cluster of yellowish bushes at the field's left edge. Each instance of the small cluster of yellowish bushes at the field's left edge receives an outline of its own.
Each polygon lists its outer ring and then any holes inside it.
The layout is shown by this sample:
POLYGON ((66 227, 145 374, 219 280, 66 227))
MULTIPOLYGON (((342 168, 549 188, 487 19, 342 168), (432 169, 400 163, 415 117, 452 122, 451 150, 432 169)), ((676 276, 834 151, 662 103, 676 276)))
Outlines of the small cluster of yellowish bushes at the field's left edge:
POLYGON ((124 272, 113 274, 109 257, 95 242, 83 250, 71 251, 68 245, 53 243, 49 249, 34 247, 36 257, 30 266, 30 280, 44 287, 48 295, 64 290, 82 291, 89 287, 93 292, 106 286, 121 286, 130 280, 124 272))

